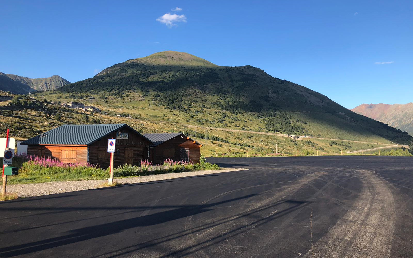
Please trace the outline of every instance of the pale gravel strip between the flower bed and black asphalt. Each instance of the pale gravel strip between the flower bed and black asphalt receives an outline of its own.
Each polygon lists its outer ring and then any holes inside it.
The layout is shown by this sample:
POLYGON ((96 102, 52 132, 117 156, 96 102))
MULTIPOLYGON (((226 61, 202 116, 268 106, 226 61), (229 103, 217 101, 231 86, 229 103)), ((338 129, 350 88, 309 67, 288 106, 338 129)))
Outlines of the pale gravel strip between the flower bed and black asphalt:
MULTIPOLYGON (((165 179, 172 179, 178 177, 192 177, 204 174, 215 174, 222 172, 231 172, 237 170, 245 170, 244 168, 221 168, 218 170, 197 170, 190 172, 156 174, 140 177, 125 177, 115 178, 121 184, 135 184, 149 181, 158 181, 165 179)), ((80 190, 87 190, 98 188, 100 185, 107 182, 107 180, 81 180, 81 181, 55 181, 47 183, 33 183, 33 184, 15 184, 7 186, 8 193, 15 193, 19 197, 32 197, 54 193, 66 193, 80 190)))

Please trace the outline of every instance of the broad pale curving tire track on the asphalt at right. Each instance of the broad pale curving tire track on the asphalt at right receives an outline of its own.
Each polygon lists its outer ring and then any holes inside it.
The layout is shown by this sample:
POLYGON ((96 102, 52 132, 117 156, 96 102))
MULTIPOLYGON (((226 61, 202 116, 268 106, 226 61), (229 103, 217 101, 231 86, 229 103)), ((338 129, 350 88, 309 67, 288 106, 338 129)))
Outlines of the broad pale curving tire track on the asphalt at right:
POLYGON ((390 258, 395 216, 394 197, 386 183, 358 170, 363 183, 349 211, 316 242, 305 258, 390 258))

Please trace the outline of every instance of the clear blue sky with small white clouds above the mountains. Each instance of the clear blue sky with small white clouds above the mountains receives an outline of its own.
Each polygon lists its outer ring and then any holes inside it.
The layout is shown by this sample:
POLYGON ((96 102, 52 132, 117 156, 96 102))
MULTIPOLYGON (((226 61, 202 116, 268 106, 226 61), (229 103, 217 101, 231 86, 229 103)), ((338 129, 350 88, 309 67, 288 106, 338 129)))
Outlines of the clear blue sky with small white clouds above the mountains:
POLYGON ((412 13, 411 0, 8 0, 0 71, 74 82, 173 50, 253 65, 347 108, 405 104, 413 102, 412 13))

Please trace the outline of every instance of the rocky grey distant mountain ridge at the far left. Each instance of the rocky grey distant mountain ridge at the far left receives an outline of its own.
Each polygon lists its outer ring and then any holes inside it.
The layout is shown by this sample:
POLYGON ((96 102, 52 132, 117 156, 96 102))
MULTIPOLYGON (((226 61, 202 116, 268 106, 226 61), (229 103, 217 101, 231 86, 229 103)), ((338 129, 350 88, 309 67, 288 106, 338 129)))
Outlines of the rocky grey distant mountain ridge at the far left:
POLYGON ((15 94, 26 94, 29 91, 48 91, 60 88, 71 82, 59 75, 47 78, 31 79, 16 74, 5 74, 0 72, 0 90, 10 91, 15 94))

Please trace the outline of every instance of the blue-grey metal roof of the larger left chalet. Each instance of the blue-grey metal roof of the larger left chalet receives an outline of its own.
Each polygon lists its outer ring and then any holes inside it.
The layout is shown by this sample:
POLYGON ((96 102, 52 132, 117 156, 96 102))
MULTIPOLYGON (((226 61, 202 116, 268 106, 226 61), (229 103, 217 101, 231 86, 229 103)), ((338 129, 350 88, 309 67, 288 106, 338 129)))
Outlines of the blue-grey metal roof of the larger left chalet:
MULTIPOLYGON (((128 127, 126 123, 107 125, 63 125, 28 139, 21 144, 89 145, 111 132, 128 127)), ((143 135, 142 135, 143 136, 143 135)), ((147 139, 145 136, 143 136, 147 139)), ((147 139, 151 144, 150 139, 147 139)))

